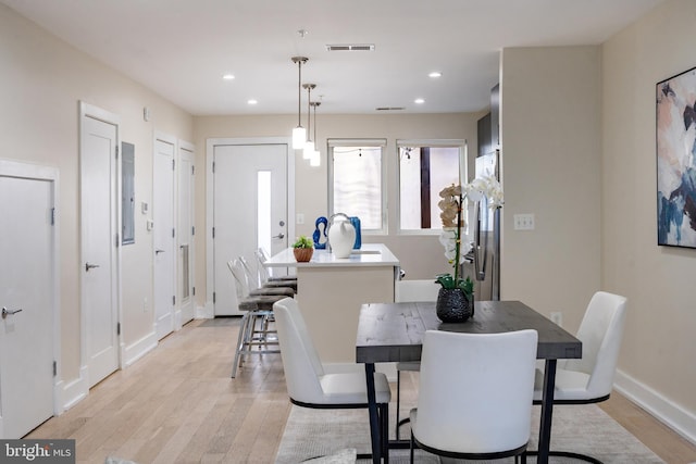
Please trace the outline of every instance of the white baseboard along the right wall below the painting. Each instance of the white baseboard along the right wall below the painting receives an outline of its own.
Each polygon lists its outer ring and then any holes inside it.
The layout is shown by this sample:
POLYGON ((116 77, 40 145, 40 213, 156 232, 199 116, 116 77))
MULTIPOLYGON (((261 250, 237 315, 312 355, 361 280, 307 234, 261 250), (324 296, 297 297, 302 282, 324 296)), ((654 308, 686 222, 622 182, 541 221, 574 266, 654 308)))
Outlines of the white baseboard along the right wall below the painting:
POLYGON ((696 444, 696 414, 622 371, 617 371, 614 389, 686 440, 696 444))

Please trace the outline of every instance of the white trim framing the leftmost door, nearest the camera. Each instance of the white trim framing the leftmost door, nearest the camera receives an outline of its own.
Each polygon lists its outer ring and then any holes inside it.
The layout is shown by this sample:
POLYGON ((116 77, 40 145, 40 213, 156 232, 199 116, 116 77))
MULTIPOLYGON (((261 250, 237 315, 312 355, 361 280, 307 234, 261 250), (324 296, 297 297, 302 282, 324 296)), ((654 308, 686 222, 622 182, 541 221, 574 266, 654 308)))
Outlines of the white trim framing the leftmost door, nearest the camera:
MULTIPOLYGON (((53 361, 55 362, 55 376, 53 377, 52 397, 53 397, 53 414, 59 415, 62 412, 60 406, 60 389, 62 376, 62 349, 61 349, 61 291, 60 291, 60 173, 57 167, 40 164, 32 164, 21 161, 0 159, 0 176, 17 177, 27 179, 45 180, 52 184, 51 198, 53 202, 54 216, 53 228, 51 234, 51 301, 52 301, 52 338, 53 338, 53 361)), ((3 419, 0 415, 0 437, 3 437, 3 419)))

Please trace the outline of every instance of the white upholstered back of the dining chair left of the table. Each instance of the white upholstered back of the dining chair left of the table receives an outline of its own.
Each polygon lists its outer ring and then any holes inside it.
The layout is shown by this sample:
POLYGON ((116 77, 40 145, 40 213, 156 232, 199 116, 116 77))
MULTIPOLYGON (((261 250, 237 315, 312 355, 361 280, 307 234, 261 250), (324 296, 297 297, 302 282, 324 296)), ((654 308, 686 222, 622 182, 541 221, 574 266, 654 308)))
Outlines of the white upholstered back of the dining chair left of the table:
POLYGON ((273 305, 273 313, 288 394, 303 403, 324 402, 320 384, 324 368, 297 301, 285 298, 273 305))

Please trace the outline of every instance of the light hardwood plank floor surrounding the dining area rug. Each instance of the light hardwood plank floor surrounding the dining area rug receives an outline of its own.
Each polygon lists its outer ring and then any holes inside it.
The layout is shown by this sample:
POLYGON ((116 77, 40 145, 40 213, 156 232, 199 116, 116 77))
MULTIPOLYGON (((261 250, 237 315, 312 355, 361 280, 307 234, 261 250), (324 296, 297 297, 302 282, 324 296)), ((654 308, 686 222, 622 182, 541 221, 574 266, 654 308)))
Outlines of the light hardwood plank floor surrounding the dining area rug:
MULTIPOLYGON (((253 356, 231 379, 235 322, 189 323, 27 438, 75 439, 80 464, 272 463, 290 411, 283 365, 253 356)), ((407 373, 407 400, 414 386, 407 373)), ((696 447, 620 394, 601 407, 667 463, 696 462, 696 447)))

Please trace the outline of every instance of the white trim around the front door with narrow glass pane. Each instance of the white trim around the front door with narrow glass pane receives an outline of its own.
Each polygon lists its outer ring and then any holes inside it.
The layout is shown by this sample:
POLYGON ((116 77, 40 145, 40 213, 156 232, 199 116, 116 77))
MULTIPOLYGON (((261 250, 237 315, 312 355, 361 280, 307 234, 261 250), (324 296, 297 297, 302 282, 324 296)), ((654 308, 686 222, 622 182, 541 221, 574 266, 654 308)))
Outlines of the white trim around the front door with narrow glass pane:
POLYGON ((287 149, 287 236, 295 237, 295 150, 290 137, 209 138, 206 140, 206 305, 197 318, 214 317, 214 247, 213 228, 213 155, 216 146, 229 145, 284 145, 287 149), (200 317, 199 317, 200 316, 200 317))

